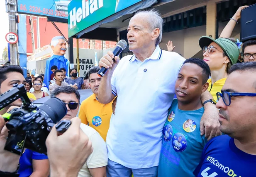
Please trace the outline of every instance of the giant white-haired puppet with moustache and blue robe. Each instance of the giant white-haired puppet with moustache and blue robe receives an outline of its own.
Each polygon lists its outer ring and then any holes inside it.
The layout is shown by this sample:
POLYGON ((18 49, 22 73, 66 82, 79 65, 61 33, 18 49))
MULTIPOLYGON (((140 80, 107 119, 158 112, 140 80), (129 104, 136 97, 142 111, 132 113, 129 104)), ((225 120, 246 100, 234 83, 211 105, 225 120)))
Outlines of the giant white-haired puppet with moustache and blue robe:
POLYGON ((69 61, 64 57, 67 48, 66 41, 63 36, 56 36, 52 38, 51 50, 53 51, 53 56, 47 59, 44 74, 44 83, 46 87, 49 87, 49 81, 51 80, 51 74, 53 73, 53 71, 51 71, 52 66, 69 70, 69 61))

